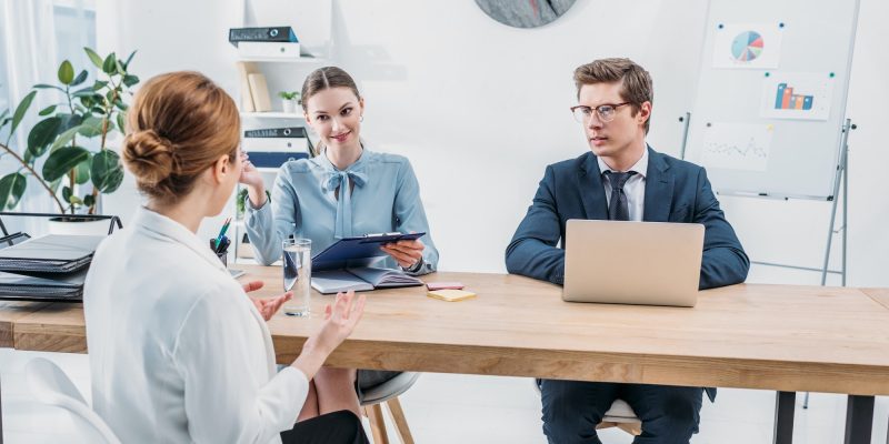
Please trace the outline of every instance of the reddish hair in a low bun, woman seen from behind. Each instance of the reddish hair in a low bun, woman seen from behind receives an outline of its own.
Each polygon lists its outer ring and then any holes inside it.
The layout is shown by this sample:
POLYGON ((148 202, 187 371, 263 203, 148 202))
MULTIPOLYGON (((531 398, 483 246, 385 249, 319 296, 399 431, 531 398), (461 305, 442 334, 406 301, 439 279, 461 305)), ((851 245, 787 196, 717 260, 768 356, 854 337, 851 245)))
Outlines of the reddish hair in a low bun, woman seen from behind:
POLYGON ((238 154, 238 108, 199 72, 153 77, 136 93, 127 120, 123 164, 153 199, 177 201, 220 157, 238 154))

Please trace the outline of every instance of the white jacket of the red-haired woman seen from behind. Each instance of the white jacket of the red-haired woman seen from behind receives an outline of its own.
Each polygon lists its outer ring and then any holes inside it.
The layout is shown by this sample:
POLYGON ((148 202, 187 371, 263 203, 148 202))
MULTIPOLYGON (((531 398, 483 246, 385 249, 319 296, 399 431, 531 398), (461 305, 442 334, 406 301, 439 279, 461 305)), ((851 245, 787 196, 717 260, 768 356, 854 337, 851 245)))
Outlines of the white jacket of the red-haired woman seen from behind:
POLYGON ((124 443, 280 443, 306 402, 209 240, 161 214, 101 243, 83 311, 93 407, 124 443))

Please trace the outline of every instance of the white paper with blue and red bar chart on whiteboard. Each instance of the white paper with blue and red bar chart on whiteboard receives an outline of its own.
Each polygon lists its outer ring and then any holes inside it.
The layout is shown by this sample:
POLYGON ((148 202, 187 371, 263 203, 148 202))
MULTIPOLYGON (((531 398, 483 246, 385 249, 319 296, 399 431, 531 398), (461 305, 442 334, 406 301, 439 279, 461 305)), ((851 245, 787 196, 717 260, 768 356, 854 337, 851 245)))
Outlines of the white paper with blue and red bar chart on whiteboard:
POLYGON ((767 72, 762 82, 760 117, 766 119, 827 120, 835 78, 828 72, 767 72))

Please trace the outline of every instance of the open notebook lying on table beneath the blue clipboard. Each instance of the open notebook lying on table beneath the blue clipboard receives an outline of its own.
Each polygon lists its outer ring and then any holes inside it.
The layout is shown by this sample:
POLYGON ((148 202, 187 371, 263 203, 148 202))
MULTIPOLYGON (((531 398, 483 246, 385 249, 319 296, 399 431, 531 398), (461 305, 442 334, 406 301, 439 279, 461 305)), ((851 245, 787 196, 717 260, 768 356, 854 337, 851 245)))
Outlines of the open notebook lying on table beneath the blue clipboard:
POLYGON ((422 285, 419 279, 400 270, 361 266, 344 270, 318 271, 312 273, 312 289, 319 293, 341 291, 369 291, 393 286, 422 285))

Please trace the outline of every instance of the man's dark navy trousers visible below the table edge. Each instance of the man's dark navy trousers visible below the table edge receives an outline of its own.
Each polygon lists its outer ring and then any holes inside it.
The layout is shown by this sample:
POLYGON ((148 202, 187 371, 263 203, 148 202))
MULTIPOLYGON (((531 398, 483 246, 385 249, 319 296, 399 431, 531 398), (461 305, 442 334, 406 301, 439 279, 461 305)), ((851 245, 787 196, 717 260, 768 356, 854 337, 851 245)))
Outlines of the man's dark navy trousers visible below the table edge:
POLYGON ((543 434, 552 444, 601 444, 596 425, 621 398, 642 422, 633 444, 688 444, 698 433, 703 389, 540 380, 543 434))

